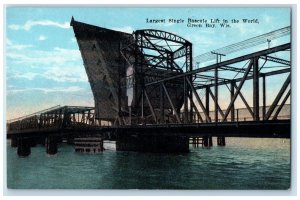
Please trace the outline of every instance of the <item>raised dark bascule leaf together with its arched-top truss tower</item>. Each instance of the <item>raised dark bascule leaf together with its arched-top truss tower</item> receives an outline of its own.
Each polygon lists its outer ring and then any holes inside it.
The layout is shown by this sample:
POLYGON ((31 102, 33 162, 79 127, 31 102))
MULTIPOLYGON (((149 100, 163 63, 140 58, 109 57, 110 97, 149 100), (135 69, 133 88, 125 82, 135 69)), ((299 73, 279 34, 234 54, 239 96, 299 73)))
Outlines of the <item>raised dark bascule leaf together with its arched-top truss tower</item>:
POLYGON ((168 116, 178 121, 178 116, 172 117, 189 95, 183 92, 184 85, 177 80, 164 86, 145 88, 144 84, 191 71, 189 41, 158 30, 138 30, 132 35, 73 18, 71 26, 94 94, 97 119, 118 124, 162 123, 168 116))

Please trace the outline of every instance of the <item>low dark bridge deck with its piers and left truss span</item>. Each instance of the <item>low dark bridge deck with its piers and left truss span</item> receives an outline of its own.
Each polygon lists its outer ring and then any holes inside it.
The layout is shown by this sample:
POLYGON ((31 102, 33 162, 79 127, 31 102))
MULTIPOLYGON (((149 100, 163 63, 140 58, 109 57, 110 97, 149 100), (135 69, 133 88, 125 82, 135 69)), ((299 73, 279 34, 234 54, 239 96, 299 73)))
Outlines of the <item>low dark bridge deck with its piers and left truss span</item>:
POLYGON ((7 138, 20 156, 28 156, 37 144, 45 145, 48 154, 56 154, 59 143, 74 145, 80 138, 101 139, 102 145, 103 140, 116 141, 117 150, 147 152, 188 152, 191 143, 210 147, 212 137, 217 137, 220 146, 226 145, 225 137, 290 138, 290 119, 108 126, 95 124, 93 113, 92 107, 47 109, 10 121, 7 138))

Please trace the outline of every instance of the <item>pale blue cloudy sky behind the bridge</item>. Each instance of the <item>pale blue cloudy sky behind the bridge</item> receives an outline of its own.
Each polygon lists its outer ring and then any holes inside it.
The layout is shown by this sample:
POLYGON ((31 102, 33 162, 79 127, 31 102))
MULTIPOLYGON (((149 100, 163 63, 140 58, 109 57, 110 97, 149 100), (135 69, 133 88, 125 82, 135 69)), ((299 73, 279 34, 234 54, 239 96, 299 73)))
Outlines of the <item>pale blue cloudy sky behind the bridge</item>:
MULTIPOLYGON (((7 119, 55 105, 94 106, 70 27, 72 16, 76 21, 128 33, 150 28, 175 33, 192 42, 194 57, 290 25, 289 8, 8 6, 4 53, 7 119), (187 27, 188 18, 225 19, 230 28, 187 27), (184 23, 147 23, 147 19, 183 19, 184 23), (257 19, 258 23, 233 24, 233 19, 257 19)), ((279 43, 272 41, 271 45, 279 43)))

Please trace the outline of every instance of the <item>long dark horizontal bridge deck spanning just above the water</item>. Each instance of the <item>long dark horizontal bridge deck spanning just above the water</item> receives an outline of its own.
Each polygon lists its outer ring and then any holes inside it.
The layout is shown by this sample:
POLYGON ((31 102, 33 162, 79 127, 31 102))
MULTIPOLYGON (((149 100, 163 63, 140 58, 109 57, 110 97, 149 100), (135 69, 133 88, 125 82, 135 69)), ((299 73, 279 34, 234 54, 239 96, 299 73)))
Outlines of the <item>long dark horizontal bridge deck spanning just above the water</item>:
POLYGON ((115 140, 125 135, 162 135, 162 136, 226 136, 290 138, 290 120, 245 121, 195 124, 151 124, 123 126, 88 126, 73 124, 68 127, 48 127, 8 131, 11 136, 43 137, 47 135, 95 135, 115 140))

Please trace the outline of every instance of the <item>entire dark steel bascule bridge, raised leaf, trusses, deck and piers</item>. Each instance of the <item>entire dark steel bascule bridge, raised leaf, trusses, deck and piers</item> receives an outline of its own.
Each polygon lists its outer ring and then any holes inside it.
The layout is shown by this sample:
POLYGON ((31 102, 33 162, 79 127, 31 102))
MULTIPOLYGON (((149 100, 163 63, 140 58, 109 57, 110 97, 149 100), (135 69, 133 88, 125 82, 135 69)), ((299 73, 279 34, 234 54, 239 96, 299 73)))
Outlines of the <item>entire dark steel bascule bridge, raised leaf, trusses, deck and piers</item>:
POLYGON ((78 135, 116 140, 117 150, 186 152, 189 138, 211 146, 217 136, 224 146, 225 137, 290 137, 291 43, 270 47, 270 39, 288 35, 290 27, 193 59, 192 43, 174 33, 129 34, 74 18, 71 26, 95 107, 56 106, 8 121, 7 135, 24 155, 28 138, 46 138, 50 152, 57 151, 56 138, 78 135), (264 43, 268 47, 228 56, 264 43), (212 57, 216 62, 206 64, 212 57), (271 77, 278 86, 267 95, 271 77))

